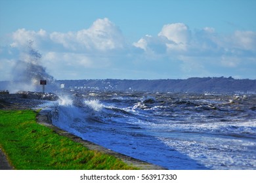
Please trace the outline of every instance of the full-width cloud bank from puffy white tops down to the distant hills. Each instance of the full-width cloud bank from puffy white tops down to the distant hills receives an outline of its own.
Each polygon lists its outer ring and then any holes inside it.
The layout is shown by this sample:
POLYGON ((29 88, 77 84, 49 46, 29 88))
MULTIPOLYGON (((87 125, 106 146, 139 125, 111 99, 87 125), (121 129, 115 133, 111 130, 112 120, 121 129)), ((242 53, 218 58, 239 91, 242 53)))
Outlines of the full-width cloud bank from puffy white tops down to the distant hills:
POLYGON ((256 78, 256 33, 220 34, 213 27, 192 30, 183 23, 166 24, 158 35, 127 40, 108 18, 91 27, 60 33, 18 29, 0 47, 0 80, 24 59, 33 41, 41 64, 57 79, 187 78, 234 76, 256 78))

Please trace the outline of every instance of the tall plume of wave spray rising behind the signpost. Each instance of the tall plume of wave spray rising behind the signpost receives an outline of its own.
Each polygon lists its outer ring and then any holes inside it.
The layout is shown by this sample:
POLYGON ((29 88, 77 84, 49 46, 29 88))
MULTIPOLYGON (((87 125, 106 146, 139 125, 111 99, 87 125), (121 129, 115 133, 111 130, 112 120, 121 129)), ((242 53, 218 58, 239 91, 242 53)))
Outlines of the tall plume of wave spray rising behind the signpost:
POLYGON ((12 81, 9 84, 11 92, 18 90, 41 91, 40 80, 47 80, 51 89, 56 88, 53 76, 41 65, 41 54, 33 48, 33 41, 28 42, 28 48, 22 53, 23 59, 18 60, 12 70, 12 81))

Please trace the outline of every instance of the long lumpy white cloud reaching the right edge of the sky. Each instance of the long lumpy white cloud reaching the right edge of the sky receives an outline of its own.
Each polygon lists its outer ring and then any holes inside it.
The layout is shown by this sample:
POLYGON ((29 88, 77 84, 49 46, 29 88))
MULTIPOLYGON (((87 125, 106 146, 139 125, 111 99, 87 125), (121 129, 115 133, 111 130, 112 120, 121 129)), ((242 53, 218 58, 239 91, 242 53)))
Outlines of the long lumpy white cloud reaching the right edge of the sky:
MULTIPOLYGON (((173 56, 240 56, 256 50, 256 33, 253 31, 235 31, 231 35, 219 35, 212 27, 190 31, 182 23, 163 25, 158 36, 146 35, 133 43, 144 52, 152 52, 156 45, 158 52, 173 56), (163 39, 163 37, 167 39, 163 39), (158 44, 156 44, 158 43, 158 44), (161 46, 159 46, 161 44, 161 46), (165 45, 165 46, 163 46, 165 45), (160 51, 161 49, 161 51, 160 51), (234 55, 235 54, 235 55, 234 55)), ((158 53, 156 52, 156 53, 158 53)))

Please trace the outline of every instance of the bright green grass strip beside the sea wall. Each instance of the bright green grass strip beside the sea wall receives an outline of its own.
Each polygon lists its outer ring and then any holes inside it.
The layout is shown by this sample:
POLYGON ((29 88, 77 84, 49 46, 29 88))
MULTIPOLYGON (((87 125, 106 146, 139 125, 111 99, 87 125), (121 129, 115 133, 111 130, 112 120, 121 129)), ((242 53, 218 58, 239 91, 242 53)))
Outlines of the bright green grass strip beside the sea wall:
POLYGON ((0 146, 15 169, 136 169, 37 124, 33 110, 0 110, 0 146))

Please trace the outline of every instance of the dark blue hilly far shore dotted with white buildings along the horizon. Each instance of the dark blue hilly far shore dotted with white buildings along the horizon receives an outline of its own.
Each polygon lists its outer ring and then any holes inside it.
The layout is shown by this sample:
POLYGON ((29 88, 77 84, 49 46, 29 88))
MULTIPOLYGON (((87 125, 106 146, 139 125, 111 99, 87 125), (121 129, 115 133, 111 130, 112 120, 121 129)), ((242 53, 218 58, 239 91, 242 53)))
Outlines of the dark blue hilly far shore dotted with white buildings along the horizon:
MULTIPOLYGON (((0 90, 9 90, 9 84, 18 81, 0 81, 0 90)), ((256 80, 232 77, 205 77, 187 79, 84 79, 55 80, 47 85, 48 92, 58 89, 99 91, 173 92, 173 93, 256 93, 256 80)), ((37 87, 37 92, 41 88, 37 87)))

